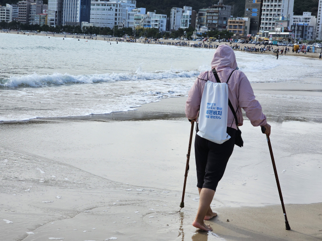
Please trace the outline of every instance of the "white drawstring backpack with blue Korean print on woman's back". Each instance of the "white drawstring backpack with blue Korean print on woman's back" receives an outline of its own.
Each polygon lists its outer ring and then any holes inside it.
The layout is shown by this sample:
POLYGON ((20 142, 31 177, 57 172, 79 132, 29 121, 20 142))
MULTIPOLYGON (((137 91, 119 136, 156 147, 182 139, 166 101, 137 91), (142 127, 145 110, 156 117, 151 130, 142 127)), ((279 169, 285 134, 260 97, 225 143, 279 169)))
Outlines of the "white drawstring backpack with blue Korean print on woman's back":
POLYGON ((218 79, 217 83, 208 80, 201 98, 197 135, 208 141, 222 144, 230 139, 227 134, 228 85, 218 79))

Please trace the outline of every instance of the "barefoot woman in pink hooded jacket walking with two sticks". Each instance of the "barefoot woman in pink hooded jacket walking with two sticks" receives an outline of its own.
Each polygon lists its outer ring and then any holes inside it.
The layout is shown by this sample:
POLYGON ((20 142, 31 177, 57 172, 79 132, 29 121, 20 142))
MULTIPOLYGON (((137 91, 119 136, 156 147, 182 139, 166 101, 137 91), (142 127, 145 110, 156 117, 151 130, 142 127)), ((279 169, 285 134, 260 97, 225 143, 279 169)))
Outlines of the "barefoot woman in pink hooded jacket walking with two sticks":
MULTIPOLYGON (((233 152, 237 126, 243 125, 243 114, 241 108, 246 111, 254 127, 265 127, 266 134, 270 135, 271 126, 266 122, 266 116, 262 112, 260 103, 255 99, 252 86, 246 75, 236 70, 236 58, 233 50, 226 45, 220 45, 211 63, 212 71, 201 73, 191 90, 186 103, 186 116, 188 119, 196 121, 207 81, 216 83, 214 73, 217 72, 221 83, 228 85, 228 97, 237 116, 235 124, 232 110, 228 108, 226 133, 231 137, 222 144, 208 141, 198 134, 195 138, 195 157, 198 179, 198 190, 200 195, 197 216, 192 223, 194 227, 205 231, 210 231, 210 225, 206 225, 204 220, 209 220, 217 213, 210 208, 211 201, 215 194, 218 182, 221 180, 226 169, 227 162, 233 152), (229 81, 228 81, 229 79, 229 81)), ((198 133, 197 128, 197 133, 198 133)))

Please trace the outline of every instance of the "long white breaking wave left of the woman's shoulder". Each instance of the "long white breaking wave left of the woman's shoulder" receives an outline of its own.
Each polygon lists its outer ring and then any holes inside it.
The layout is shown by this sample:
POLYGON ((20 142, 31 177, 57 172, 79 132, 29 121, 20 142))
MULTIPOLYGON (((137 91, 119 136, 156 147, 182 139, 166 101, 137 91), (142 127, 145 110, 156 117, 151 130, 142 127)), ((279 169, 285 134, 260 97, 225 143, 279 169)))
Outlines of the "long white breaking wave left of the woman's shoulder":
POLYGON ((46 87, 62 84, 81 84, 81 83, 101 83, 129 80, 153 80, 153 79, 172 79, 172 78, 191 78, 197 77, 200 71, 164 71, 164 72, 136 72, 136 73, 106 73, 90 75, 70 75, 70 74, 45 74, 37 73, 23 76, 12 76, 0 79, 0 87, 46 87))

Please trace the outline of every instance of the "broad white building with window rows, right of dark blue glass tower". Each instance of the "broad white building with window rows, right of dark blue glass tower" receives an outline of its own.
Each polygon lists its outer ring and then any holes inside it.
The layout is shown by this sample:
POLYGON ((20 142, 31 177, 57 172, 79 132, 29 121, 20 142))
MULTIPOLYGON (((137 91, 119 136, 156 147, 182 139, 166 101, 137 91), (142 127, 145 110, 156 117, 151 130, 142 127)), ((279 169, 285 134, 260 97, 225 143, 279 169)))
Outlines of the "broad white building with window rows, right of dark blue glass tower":
POLYGON ((128 13, 136 8, 136 1, 111 0, 91 2, 90 22, 97 27, 126 26, 128 13))

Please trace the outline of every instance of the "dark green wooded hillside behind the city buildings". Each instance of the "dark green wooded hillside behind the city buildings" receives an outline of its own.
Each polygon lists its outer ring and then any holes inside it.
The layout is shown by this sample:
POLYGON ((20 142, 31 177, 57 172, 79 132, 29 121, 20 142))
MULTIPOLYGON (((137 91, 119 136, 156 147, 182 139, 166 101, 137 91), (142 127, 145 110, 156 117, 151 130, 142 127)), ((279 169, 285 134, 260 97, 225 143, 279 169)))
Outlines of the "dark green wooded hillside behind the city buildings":
MULTIPOLYGON (((0 0, 0 5, 15 4, 18 0, 0 0)), ((48 0, 44 0, 47 4, 48 0)), ((193 10, 209 7, 217 4, 219 0, 137 0, 138 8, 146 8, 148 12, 156 10, 158 14, 167 14, 170 16, 170 10, 173 7, 183 8, 183 6, 192 7, 193 10)), ((233 16, 243 17, 245 12, 245 0, 223 0, 223 4, 234 6, 233 16)), ((302 15, 303 12, 312 12, 317 16, 318 0, 294 0, 294 14, 302 15)))

